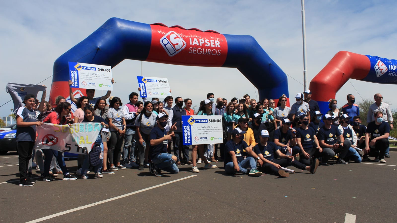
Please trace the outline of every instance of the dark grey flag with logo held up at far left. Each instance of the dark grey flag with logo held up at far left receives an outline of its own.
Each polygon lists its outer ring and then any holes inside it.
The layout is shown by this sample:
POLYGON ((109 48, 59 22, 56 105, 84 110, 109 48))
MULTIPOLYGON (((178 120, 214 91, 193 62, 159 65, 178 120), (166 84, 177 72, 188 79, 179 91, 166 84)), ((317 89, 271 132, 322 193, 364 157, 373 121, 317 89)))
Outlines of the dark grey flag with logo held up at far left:
POLYGON ((37 96, 39 91, 44 90, 46 90, 46 87, 42 85, 7 83, 6 92, 10 93, 12 102, 14 103, 13 113, 17 113, 18 108, 25 105, 22 103, 25 95, 33 94, 37 96))

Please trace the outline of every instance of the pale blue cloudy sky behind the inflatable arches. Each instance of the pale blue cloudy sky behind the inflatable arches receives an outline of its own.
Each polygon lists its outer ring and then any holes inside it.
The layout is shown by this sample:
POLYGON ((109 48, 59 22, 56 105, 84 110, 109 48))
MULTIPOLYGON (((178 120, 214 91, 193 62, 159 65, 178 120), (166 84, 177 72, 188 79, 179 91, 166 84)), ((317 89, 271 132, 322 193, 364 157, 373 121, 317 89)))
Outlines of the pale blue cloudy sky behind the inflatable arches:
MULTIPOLYGON (((341 50, 396 59, 395 1, 306 0, 307 73, 310 80, 341 50)), ((0 65, 3 91, 0 105, 11 99, 7 82, 39 83, 52 75, 56 58, 89 36, 110 17, 142 23, 181 25, 187 29, 212 29, 223 34, 251 35, 288 77, 292 98, 303 91, 303 51, 301 2, 299 0, 247 1, 1 1, 0 65), (299 82, 293 80, 292 78, 299 82)), ((126 103, 137 90, 136 76, 141 62, 125 60, 112 69, 116 84, 112 96, 126 103)), ((214 92, 230 100, 250 94, 253 85, 234 68, 189 67, 143 62, 143 75, 168 77, 173 96, 192 98, 197 105, 214 92), (181 75, 182 74, 182 75, 181 75), (197 88, 185 83, 193 79, 197 88)), ((52 78, 42 84, 50 88, 52 78)), ((376 92, 397 108, 393 85, 351 80, 363 98, 376 92)), ((361 98, 349 82, 336 98, 346 103, 346 95, 361 98)), ((103 92, 105 93, 105 92, 103 92)), ((100 91, 97 91, 97 96, 100 91)), ((38 97, 41 95, 39 94, 38 97)), ((12 102, 0 108, 0 116, 10 113, 12 102)))

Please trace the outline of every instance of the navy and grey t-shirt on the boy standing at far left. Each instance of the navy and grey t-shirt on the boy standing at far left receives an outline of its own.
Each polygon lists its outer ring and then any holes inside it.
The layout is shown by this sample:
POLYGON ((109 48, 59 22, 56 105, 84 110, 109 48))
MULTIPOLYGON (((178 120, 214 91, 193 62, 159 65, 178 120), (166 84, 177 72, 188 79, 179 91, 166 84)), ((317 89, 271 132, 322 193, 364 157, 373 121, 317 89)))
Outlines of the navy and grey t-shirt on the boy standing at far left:
MULTIPOLYGON (((18 109, 17 116, 21 117, 24 122, 37 121, 36 112, 25 108, 25 106, 18 109)), ((28 127, 17 126, 17 134, 15 138, 17 138, 17 142, 22 142, 22 141, 34 142, 36 140, 36 125, 31 125, 28 127)))

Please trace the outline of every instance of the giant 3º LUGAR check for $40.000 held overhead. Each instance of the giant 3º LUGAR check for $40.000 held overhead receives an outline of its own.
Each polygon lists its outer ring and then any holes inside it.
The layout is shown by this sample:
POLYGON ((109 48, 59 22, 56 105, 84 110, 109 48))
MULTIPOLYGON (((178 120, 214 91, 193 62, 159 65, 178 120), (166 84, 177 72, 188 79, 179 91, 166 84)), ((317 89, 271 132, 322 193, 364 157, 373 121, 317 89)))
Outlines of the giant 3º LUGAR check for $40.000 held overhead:
POLYGON ((71 87, 113 90, 112 68, 105 65, 69 62, 71 87))

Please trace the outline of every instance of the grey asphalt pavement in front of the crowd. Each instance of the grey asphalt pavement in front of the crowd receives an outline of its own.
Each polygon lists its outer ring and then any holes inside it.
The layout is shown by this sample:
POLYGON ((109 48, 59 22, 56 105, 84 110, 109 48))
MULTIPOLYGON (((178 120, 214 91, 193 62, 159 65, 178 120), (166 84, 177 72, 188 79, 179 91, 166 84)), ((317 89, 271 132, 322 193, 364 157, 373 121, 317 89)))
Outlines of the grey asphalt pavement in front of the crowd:
POLYGON ((229 176, 218 162, 198 164, 200 173, 126 169, 22 187, 17 154, 8 153, 0 156, 0 222, 396 222, 397 152, 386 161, 320 166, 314 175, 290 167, 288 178, 229 176))

